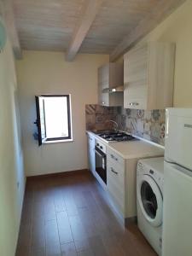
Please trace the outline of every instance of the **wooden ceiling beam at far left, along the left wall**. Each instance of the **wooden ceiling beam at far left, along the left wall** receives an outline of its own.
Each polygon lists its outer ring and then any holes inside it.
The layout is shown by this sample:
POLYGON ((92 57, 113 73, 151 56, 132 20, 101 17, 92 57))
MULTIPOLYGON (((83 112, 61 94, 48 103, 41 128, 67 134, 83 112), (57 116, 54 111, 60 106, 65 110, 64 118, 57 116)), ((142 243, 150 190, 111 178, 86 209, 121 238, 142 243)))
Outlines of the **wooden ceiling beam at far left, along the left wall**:
POLYGON ((12 0, 3 0, 3 18, 9 33, 15 58, 20 60, 22 59, 22 50, 20 48, 20 39, 15 26, 15 14, 12 0))

